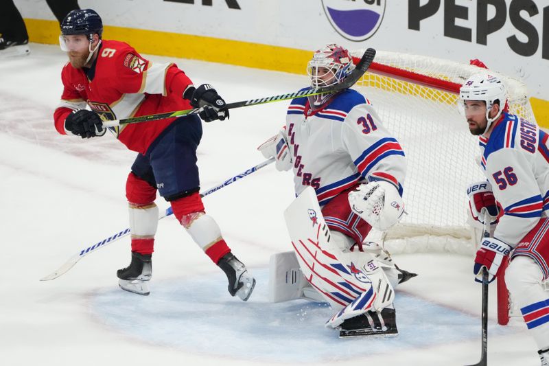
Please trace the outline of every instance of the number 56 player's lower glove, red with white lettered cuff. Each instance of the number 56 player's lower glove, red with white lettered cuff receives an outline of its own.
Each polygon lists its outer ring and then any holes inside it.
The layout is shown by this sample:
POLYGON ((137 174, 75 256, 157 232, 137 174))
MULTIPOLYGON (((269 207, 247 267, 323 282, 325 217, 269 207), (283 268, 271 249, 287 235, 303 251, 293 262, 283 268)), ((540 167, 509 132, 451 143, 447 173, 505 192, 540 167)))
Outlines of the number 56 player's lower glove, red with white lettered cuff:
POLYGON ((475 281, 482 282, 482 267, 488 270, 488 282, 492 282, 500 271, 500 265, 506 255, 511 253, 511 247, 495 238, 483 238, 480 249, 476 252, 473 273, 475 281))

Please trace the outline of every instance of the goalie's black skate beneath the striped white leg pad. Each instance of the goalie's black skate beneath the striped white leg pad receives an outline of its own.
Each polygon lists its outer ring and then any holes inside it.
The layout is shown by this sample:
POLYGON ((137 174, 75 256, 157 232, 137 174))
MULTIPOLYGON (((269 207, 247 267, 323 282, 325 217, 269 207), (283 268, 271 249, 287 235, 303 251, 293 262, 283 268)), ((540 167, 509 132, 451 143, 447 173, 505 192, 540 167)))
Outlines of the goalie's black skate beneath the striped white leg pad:
POLYGON ((340 325, 340 338, 348 336, 396 336, 395 309, 384 308, 381 312, 369 311, 346 319, 340 325))

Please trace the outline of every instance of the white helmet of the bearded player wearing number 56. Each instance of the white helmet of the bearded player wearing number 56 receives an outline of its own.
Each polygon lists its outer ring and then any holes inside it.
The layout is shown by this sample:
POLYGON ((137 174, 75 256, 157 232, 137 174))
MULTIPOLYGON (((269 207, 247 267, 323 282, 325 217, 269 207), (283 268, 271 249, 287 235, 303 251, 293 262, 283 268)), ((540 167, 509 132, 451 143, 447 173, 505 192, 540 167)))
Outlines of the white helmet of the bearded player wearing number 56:
POLYGON ((498 76, 489 73, 475 73, 459 89, 459 99, 462 114, 465 115, 463 107, 465 100, 482 100, 486 103, 486 129, 490 128, 492 122, 497 120, 507 104, 507 89, 498 76), (494 117, 489 117, 493 104, 499 104, 500 111, 494 117))

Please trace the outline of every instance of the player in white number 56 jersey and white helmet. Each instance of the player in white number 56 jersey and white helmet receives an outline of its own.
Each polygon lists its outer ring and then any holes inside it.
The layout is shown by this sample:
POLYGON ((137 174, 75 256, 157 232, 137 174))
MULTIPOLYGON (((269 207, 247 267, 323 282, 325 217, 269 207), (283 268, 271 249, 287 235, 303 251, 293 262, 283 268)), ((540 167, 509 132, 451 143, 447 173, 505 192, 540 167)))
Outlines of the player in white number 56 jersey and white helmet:
POLYGON ((539 347, 541 366, 549 366, 549 297, 541 284, 549 278, 549 135, 536 124, 506 111, 506 87, 498 76, 478 73, 460 88, 460 108, 478 136, 479 165, 487 181, 469 186, 474 219, 488 211, 493 238, 482 238, 474 274, 482 282, 498 275, 506 257, 505 283, 539 347))

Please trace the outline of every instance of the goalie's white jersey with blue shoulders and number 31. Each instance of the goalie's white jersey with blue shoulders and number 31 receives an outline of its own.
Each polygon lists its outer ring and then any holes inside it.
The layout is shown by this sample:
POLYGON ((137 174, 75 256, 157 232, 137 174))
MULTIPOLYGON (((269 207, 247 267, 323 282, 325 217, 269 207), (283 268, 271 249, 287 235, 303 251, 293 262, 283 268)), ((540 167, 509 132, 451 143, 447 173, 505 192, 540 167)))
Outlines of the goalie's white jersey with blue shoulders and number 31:
POLYGON ((346 89, 318 111, 307 98, 292 100, 286 133, 296 195, 310 185, 323 206, 364 180, 388 181, 402 195, 404 151, 358 91, 346 89))

